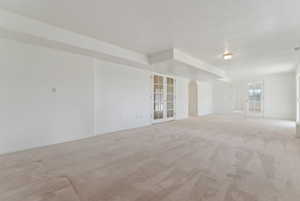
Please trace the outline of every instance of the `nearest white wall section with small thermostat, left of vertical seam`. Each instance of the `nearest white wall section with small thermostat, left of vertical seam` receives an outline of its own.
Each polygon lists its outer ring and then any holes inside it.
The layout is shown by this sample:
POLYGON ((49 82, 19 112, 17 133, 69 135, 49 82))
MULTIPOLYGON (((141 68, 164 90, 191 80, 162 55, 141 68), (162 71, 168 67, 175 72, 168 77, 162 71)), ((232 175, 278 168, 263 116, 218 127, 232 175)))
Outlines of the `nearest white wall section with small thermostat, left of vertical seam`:
POLYGON ((0 153, 94 134, 92 59, 5 39, 0 52, 0 153))

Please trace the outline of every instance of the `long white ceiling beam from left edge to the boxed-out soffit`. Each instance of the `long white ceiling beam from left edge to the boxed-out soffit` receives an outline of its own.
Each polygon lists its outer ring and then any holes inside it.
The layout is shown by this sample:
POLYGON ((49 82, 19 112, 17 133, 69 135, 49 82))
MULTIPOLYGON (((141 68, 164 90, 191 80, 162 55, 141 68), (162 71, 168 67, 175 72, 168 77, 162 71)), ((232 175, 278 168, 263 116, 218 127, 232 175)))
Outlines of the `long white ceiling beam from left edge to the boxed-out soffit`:
POLYGON ((0 9, 0 34, 24 42, 40 43, 61 49, 73 49, 81 54, 127 60, 133 65, 148 65, 144 54, 83 36, 56 26, 0 9), (76 50, 76 48, 78 50, 76 50))

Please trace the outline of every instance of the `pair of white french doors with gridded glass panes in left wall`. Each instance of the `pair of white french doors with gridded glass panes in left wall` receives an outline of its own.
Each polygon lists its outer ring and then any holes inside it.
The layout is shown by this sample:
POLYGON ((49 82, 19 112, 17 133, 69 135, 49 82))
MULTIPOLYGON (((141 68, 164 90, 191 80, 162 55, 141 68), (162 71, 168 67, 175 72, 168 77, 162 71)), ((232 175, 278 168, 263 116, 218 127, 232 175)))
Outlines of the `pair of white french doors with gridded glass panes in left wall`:
POLYGON ((153 123, 175 119, 175 79, 154 74, 152 83, 153 123))

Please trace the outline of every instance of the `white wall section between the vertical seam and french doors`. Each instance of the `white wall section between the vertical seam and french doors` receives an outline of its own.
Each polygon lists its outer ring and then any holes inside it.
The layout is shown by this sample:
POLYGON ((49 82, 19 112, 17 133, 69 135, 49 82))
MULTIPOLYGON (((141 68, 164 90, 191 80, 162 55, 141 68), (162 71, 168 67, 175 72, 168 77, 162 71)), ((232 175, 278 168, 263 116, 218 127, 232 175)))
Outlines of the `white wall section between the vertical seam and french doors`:
POLYGON ((151 73, 95 62, 95 133, 151 124, 151 73))

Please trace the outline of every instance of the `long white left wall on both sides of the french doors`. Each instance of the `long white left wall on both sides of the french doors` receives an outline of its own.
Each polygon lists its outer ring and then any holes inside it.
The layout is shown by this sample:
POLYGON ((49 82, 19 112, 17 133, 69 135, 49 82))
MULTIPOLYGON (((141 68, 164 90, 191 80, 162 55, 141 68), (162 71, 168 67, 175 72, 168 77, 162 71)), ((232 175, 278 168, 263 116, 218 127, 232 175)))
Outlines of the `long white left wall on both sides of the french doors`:
MULTIPOLYGON (((0 154, 152 123, 149 71, 0 39, 0 154)), ((189 80, 176 77, 176 119, 189 80)))

